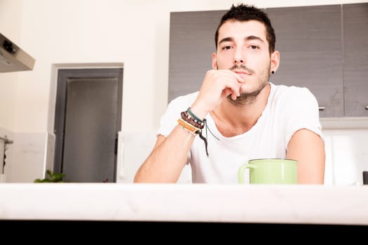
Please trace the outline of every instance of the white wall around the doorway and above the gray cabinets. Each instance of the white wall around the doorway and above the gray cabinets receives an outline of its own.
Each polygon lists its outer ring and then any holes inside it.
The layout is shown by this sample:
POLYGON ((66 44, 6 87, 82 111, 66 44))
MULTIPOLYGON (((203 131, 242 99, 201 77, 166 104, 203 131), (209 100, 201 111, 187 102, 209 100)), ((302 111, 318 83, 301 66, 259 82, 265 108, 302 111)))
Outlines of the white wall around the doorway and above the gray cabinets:
MULTIPOLYGON (((261 8, 359 2, 365 1, 246 1, 261 8)), ((44 147, 53 133, 53 64, 123 63, 121 129, 154 130, 168 104, 170 12, 225 10, 231 3, 0 0, 1 33, 36 59, 33 71, 0 73, 0 133, 3 130, 18 139, 13 146, 18 155, 12 172, 27 169, 26 179, 34 179, 48 164, 44 147), (31 164, 25 163, 25 155, 33 151, 37 154, 30 162, 36 163, 32 168, 25 167, 31 164)), ((18 177, 13 174, 13 178, 18 177)))

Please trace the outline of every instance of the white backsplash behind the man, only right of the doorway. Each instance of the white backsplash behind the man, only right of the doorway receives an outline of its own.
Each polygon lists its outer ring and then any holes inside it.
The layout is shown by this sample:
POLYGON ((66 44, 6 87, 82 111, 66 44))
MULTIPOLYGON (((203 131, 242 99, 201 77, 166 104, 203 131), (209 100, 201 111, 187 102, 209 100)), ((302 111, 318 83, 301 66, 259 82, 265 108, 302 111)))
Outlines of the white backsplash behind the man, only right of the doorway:
MULTIPOLYGON (((325 185, 362 184, 368 171, 368 119, 322 119, 325 139, 325 185)), ((119 132, 118 182, 131 182, 139 165, 156 140, 154 130, 119 132)), ((188 183, 190 169, 185 167, 180 183, 188 183)))

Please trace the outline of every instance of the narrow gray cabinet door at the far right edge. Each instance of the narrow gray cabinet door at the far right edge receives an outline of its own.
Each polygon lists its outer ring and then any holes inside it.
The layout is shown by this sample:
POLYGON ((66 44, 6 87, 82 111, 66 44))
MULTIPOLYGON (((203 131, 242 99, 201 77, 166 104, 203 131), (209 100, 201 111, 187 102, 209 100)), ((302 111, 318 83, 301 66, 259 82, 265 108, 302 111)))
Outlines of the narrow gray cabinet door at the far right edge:
POLYGON ((368 116, 368 3, 343 5, 345 115, 368 116))

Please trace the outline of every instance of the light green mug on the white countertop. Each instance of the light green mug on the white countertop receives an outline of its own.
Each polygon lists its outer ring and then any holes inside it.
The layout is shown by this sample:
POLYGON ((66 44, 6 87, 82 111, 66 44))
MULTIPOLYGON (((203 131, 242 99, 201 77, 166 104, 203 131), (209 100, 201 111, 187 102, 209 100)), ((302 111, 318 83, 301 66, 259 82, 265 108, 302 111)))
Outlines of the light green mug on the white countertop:
POLYGON ((238 183, 244 183, 244 171, 249 169, 251 184, 295 184, 298 182, 298 162, 291 159, 253 159, 238 169, 238 183))

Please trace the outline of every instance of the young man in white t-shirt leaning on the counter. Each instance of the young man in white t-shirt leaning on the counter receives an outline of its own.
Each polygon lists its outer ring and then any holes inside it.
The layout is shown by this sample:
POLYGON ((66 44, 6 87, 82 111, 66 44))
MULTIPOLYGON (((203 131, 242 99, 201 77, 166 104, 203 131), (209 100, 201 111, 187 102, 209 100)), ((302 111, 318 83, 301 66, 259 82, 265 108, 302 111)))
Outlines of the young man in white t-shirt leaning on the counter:
POLYGON ((215 43, 200 91, 170 102, 135 183, 175 183, 186 164, 193 183, 238 183, 238 167, 257 158, 297 160, 298 183, 323 183, 318 103, 305 87, 269 82, 280 53, 266 13, 231 6, 215 43))

